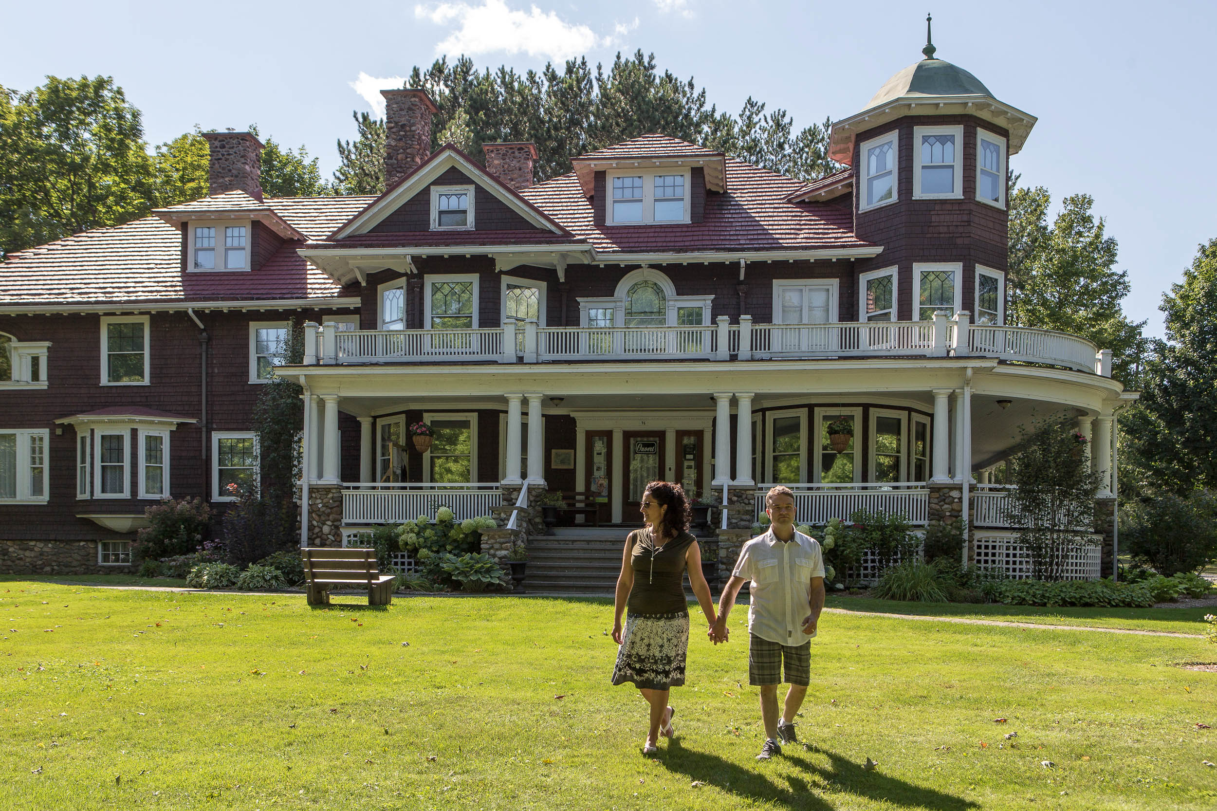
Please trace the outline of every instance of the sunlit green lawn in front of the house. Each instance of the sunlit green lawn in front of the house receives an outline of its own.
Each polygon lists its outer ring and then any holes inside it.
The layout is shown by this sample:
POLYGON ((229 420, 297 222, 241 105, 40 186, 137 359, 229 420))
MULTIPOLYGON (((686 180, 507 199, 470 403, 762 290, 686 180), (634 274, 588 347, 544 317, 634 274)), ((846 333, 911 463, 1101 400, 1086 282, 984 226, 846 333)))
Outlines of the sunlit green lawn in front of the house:
POLYGON ((1199 639, 828 614, 808 746, 757 764, 745 614, 718 648, 695 619, 680 738, 647 760, 606 602, 337 599, 0 582, 0 807, 1217 802, 1217 673, 1173 666, 1217 661, 1199 639))

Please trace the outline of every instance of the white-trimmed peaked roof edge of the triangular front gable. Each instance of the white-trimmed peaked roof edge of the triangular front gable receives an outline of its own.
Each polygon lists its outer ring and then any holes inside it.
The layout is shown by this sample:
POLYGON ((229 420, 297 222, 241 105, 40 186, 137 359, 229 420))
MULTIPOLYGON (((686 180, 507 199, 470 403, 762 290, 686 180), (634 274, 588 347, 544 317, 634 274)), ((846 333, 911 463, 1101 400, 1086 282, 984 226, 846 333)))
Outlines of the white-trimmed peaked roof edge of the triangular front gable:
MULTIPOLYGON (((514 189, 504 185, 498 178, 478 166, 472 158, 458 150, 452 144, 445 145, 439 151, 424 161, 419 168, 406 174, 396 184, 385 190, 380 197, 374 200, 366 208, 352 217, 346 224, 336 230, 330 239, 342 240, 349 236, 368 234, 376 229, 393 216, 399 208, 414 200, 415 196, 442 178, 449 169, 458 169, 467 177, 476 186, 498 200, 503 206, 525 220, 527 226, 550 231, 554 234, 566 234, 566 229, 554 219, 543 213, 534 205, 521 197, 514 189)), ((431 205, 430 197, 427 206, 431 205)), ((475 213, 475 224, 477 214, 475 213)))

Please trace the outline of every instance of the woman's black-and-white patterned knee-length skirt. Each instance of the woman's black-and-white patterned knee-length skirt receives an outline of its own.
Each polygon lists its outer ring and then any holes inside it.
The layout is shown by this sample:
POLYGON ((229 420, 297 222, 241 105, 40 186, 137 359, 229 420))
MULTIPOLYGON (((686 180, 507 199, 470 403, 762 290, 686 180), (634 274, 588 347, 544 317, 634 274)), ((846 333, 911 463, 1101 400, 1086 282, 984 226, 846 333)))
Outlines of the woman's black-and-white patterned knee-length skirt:
POLYGON ((612 683, 666 690, 684 684, 689 650, 689 613, 628 614, 612 683))

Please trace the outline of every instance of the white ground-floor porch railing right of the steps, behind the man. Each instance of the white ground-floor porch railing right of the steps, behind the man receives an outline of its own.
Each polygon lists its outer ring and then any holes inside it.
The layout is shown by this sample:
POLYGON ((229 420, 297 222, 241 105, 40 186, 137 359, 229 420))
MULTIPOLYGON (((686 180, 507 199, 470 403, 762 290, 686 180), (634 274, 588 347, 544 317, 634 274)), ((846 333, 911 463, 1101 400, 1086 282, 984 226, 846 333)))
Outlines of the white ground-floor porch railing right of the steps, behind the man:
MULTIPOLYGON (((764 494, 772 485, 757 487, 756 520, 764 514, 764 494)), ((848 521, 858 510, 897 513, 914 526, 929 521, 930 491, 924 482, 787 485, 795 493, 795 521, 820 525, 831 519, 848 521)))

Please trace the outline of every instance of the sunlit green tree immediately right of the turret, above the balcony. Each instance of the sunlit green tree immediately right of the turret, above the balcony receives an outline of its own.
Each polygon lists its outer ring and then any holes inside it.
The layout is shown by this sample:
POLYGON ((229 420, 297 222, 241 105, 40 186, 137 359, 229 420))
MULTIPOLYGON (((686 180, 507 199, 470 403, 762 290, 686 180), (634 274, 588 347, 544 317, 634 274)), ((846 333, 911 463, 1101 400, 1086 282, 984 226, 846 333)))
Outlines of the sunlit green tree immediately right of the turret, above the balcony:
POLYGON ((1115 269, 1118 245, 1092 213, 1089 195, 1065 197, 1051 225, 1050 206, 1043 186, 1010 195, 1006 324, 1087 337, 1112 351, 1115 374, 1127 381, 1143 351, 1145 321, 1128 320, 1121 308, 1129 284, 1128 272, 1115 269))

